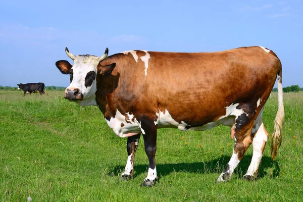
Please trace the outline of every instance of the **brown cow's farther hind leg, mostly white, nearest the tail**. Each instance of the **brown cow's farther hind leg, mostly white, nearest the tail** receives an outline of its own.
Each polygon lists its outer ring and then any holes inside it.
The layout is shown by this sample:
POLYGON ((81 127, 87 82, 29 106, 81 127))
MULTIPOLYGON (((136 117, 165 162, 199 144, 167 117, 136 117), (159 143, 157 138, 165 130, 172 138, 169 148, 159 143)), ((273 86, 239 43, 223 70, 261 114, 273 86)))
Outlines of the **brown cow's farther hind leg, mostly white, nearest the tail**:
POLYGON ((247 173, 244 175, 246 180, 255 180, 258 177, 258 169, 263 157, 263 152, 268 139, 268 133, 262 120, 263 109, 261 110, 254 127, 252 128, 252 158, 247 173))

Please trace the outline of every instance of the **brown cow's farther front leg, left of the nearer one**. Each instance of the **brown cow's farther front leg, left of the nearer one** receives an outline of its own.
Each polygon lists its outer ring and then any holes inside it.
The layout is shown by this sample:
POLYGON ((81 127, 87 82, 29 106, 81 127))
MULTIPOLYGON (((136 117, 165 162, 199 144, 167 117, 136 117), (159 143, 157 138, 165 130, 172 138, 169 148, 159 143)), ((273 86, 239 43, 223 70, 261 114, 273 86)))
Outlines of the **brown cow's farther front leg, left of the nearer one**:
POLYGON ((134 160, 135 160, 135 154, 138 147, 138 142, 140 139, 140 133, 127 137, 127 163, 124 169, 124 172, 122 173, 120 180, 129 180, 133 176, 134 173, 134 160))

